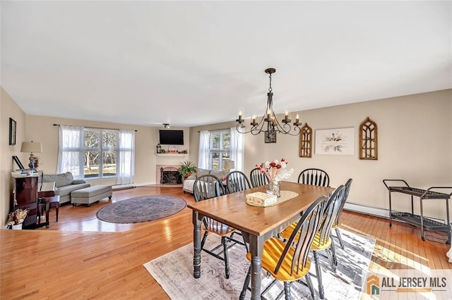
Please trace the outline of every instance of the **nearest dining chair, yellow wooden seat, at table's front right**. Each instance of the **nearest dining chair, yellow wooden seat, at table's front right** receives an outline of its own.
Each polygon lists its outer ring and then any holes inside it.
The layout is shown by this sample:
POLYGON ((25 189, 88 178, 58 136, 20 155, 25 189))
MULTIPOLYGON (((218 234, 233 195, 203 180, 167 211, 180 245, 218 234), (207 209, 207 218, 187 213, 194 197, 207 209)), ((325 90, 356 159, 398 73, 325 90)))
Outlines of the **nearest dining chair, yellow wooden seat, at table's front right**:
MULTIPOLYGON (((300 281, 304 277, 311 292, 312 299, 317 299, 309 275, 309 268, 311 266, 309 249, 311 249, 316 232, 318 232, 321 226, 327 201, 328 197, 321 196, 304 211, 287 242, 278 239, 278 237, 271 237, 263 243, 263 253, 261 256, 262 268, 268 274, 272 275, 275 280, 284 282, 284 290, 280 292, 278 298, 284 293, 285 299, 290 299, 290 287, 292 283, 300 281), (296 236, 298 237, 297 243, 295 243, 296 236)), ((247 253, 246 258, 251 261, 251 253, 247 253)), ((240 299, 245 298, 246 290, 249 290, 250 279, 251 265, 246 275, 242 292, 240 293, 240 299)), ((272 287, 275 280, 268 287, 272 287)), ((263 290, 261 297, 267 290, 268 288, 263 290)))

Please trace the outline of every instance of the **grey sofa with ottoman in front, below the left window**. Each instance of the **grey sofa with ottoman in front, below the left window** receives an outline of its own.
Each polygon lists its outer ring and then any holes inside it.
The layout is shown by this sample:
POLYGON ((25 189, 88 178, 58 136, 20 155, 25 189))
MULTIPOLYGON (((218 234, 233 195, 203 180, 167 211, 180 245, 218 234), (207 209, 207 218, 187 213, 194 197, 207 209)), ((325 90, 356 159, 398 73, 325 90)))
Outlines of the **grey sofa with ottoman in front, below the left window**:
POLYGON ((77 189, 84 189, 90 187, 85 180, 74 180, 71 172, 56 174, 56 175, 42 175, 42 182, 55 182, 55 196, 59 195, 59 204, 71 202, 71 192, 77 189))

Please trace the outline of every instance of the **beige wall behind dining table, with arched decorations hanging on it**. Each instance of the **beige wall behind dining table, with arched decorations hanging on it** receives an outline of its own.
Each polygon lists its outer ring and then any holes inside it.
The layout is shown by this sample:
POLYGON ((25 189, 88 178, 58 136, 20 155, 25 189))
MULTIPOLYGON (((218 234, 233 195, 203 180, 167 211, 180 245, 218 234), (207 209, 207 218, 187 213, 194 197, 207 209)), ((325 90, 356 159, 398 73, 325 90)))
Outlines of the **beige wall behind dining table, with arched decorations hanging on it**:
MULTIPOLYGON (((278 101, 275 101, 278 106, 278 101)), ((294 113, 292 113, 294 115, 294 113)), ((403 179, 412 187, 452 186, 452 90, 366 101, 299 112, 303 123, 314 130, 355 127, 355 155, 299 157, 299 137, 278 135, 276 144, 265 144, 263 136, 245 136, 245 173, 256 163, 286 158, 298 174, 304 168, 321 168, 331 177, 331 186, 353 178, 350 202, 388 208, 383 179, 403 179), (367 117, 378 125, 379 159, 359 159, 358 129, 367 117)), ((248 122, 247 122, 248 123, 248 122)), ((199 130, 227 128, 234 123, 191 128, 190 159, 198 161, 199 130)), ((248 125, 249 126, 249 125, 248 125)), ((313 145, 314 147, 314 145, 313 145)), ((314 151, 314 148, 313 148, 314 151)), ((449 191, 449 192, 452 192, 449 191)), ((408 209, 407 196, 394 195, 394 208, 408 209)), ((419 201, 415 202, 419 207, 419 201)), ((444 201, 424 204, 425 215, 445 218, 444 201)))

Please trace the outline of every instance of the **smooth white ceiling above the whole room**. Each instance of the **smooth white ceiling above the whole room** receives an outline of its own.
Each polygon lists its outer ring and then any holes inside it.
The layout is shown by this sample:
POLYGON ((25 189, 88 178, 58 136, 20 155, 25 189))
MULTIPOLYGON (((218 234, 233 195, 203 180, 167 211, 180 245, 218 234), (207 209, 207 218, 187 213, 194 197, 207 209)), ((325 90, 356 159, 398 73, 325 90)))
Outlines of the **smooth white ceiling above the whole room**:
POLYGON ((189 127, 452 88, 451 1, 1 1, 32 115, 189 127))

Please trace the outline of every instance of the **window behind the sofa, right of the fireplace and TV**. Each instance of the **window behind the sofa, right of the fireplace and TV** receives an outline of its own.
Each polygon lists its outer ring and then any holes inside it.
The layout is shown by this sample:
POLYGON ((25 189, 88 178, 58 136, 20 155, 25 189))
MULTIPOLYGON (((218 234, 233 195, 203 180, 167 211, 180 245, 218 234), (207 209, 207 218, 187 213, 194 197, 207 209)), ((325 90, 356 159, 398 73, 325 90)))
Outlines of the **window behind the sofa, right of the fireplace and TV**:
POLYGON ((209 137, 209 168, 227 170, 225 162, 230 160, 230 130, 211 131, 209 137))

